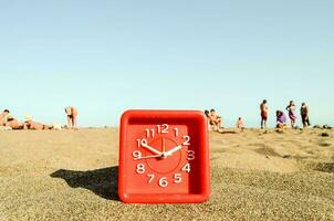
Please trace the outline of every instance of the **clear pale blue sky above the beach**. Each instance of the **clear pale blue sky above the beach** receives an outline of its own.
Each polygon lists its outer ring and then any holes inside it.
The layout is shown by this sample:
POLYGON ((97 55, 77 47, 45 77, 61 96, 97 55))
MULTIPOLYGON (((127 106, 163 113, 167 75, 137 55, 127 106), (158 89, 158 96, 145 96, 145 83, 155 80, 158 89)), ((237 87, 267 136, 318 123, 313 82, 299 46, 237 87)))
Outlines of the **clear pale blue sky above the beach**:
POLYGON ((259 125, 306 102, 334 124, 334 1, 0 0, 0 108, 117 126, 128 108, 215 107, 259 125))

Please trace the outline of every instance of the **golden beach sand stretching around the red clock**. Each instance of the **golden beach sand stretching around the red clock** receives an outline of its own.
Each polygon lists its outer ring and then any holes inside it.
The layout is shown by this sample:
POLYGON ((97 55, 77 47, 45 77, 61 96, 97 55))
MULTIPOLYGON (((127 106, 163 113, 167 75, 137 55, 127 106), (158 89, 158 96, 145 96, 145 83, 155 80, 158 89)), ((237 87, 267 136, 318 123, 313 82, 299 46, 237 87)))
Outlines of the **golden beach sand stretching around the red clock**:
POLYGON ((0 131, 0 220, 334 220, 334 130, 210 134, 211 198, 123 204, 118 130, 0 131))

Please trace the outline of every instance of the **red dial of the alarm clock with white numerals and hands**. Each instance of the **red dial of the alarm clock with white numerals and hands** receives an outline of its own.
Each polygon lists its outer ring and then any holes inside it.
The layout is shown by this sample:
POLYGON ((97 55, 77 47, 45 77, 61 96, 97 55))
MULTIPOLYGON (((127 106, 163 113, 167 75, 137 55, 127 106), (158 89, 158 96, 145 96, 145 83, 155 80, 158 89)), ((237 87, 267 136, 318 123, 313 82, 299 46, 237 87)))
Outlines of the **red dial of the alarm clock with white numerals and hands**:
POLYGON ((175 189, 188 192, 196 150, 185 125, 145 125, 134 136, 129 152, 133 173, 143 188, 175 189))

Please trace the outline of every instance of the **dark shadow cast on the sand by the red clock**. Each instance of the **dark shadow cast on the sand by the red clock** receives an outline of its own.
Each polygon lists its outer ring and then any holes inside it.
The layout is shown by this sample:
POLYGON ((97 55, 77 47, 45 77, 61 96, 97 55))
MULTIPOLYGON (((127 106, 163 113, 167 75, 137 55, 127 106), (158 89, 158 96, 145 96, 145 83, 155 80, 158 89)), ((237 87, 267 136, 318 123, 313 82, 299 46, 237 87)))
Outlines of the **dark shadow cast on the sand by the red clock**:
POLYGON ((104 199, 118 201, 118 167, 107 167, 88 171, 60 169, 51 173, 50 177, 62 178, 72 188, 84 188, 104 199))

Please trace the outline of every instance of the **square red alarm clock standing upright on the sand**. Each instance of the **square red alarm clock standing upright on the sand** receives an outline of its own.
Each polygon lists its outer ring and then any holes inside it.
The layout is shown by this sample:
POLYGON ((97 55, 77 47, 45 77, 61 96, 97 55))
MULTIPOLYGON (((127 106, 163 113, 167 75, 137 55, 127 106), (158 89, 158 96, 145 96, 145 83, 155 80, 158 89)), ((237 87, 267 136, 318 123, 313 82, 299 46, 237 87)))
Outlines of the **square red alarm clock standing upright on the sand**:
POLYGON ((210 194, 207 118, 197 110, 127 110, 118 196, 126 203, 199 203, 210 194))

